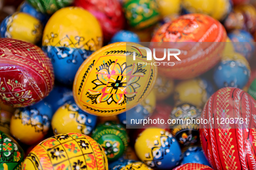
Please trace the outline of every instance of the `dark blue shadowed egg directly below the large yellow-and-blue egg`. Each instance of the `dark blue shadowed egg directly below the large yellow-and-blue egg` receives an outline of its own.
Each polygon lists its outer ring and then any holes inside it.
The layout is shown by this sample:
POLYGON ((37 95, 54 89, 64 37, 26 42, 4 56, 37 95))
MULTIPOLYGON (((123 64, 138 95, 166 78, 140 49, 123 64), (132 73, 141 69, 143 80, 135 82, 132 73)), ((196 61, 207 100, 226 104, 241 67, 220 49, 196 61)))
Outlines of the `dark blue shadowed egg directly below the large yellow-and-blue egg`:
POLYGON ((66 102, 75 100, 71 89, 55 85, 44 101, 52 105, 52 113, 55 113, 66 102))

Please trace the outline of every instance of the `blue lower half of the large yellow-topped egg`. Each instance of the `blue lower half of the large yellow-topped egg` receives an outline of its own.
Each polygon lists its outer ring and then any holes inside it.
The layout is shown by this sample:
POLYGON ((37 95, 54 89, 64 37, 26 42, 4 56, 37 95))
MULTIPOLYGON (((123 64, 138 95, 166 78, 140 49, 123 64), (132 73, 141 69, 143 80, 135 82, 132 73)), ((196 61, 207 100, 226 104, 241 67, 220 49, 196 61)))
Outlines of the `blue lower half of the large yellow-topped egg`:
POLYGON ((42 46, 42 50, 52 61, 55 79, 65 85, 73 84, 79 67, 94 52, 57 46, 42 46))

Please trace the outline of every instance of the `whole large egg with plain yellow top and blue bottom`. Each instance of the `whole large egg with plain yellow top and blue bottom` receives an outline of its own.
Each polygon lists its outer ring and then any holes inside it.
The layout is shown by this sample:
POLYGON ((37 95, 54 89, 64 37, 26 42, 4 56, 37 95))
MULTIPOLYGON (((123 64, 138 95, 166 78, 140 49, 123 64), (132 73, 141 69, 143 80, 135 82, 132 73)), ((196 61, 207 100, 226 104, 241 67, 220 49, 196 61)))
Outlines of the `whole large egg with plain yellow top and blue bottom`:
POLYGON ((73 83, 79 66, 100 47, 100 25, 85 9, 60 9, 45 25, 42 50, 52 61, 56 80, 66 85, 73 83))

